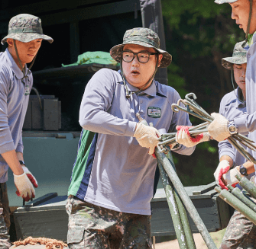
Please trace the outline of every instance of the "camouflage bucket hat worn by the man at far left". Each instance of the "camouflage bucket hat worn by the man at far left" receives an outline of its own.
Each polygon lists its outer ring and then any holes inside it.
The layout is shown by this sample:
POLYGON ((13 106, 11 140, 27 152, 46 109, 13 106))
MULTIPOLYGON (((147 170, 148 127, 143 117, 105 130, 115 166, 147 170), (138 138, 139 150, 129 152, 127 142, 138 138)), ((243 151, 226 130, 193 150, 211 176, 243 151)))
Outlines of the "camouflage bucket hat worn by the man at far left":
POLYGON ((18 14, 11 18, 8 25, 8 35, 2 39, 2 45, 7 38, 19 40, 22 43, 28 43, 31 40, 43 39, 53 42, 53 38, 43 34, 41 19, 32 14, 18 14))

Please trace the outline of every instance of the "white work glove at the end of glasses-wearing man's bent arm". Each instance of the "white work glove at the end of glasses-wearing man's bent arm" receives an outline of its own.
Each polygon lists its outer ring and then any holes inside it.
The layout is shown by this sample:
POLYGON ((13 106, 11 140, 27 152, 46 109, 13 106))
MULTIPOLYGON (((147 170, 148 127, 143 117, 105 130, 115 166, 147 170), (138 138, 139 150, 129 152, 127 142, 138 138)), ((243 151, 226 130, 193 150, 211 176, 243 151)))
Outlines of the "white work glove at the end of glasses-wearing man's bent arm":
POLYGON ((149 155, 154 153, 154 148, 158 144, 157 138, 160 137, 160 132, 151 126, 145 126, 143 123, 138 123, 134 132, 134 138, 137 139, 141 147, 149 148, 149 155))

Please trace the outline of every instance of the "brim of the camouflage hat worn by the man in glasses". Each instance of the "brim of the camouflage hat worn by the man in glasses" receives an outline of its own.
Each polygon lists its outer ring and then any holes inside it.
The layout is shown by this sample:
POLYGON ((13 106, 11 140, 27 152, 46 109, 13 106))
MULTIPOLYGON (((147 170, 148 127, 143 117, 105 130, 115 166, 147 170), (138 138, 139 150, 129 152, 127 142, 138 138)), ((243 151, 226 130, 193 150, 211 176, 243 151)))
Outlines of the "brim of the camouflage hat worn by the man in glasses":
POLYGON ((163 58, 160 62, 160 66, 159 66, 160 68, 166 68, 172 62, 172 56, 170 55, 170 53, 168 53, 167 51, 164 51, 162 49, 157 49, 155 46, 149 45, 149 44, 141 42, 141 41, 133 41, 132 43, 122 43, 122 44, 113 46, 112 49, 110 49, 109 53, 112 56, 112 58, 115 59, 116 62, 120 63, 120 61, 122 59, 122 50, 126 44, 135 44, 135 45, 141 45, 141 46, 145 46, 145 47, 152 47, 152 48, 156 49, 157 52, 159 52, 160 54, 163 55, 163 58))

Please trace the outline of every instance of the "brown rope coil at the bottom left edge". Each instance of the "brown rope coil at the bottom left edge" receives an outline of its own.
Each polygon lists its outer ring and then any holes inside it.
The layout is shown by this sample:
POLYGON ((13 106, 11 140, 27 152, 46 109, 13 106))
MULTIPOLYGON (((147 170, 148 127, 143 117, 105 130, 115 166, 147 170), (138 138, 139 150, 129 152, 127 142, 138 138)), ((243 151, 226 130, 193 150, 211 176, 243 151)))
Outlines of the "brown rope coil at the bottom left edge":
POLYGON ((32 238, 28 237, 25 238, 23 241, 16 241, 13 244, 15 244, 15 247, 18 247, 19 245, 26 245, 26 244, 45 244, 46 249, 63 249, 63 247, 67 247, 67 244, 65 244, 63 241, 57 241, 53 238, 32 238))

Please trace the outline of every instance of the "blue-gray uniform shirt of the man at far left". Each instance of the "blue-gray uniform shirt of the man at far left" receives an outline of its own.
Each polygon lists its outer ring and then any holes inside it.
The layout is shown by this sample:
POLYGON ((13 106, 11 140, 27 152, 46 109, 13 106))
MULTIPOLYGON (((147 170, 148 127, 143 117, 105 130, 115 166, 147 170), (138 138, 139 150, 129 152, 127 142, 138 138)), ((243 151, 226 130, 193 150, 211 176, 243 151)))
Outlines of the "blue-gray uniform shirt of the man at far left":
MULTIPOLYGON (((25 68, 27 72, 27 67, 25 68)), ((31 71, 23 73, 8 49, 0 53, 0 154, 16 150, 23 153, 22 126, 33 85, 31 71)), ((8 164, 0 155, 0 183, 8 180, 8 164)))

